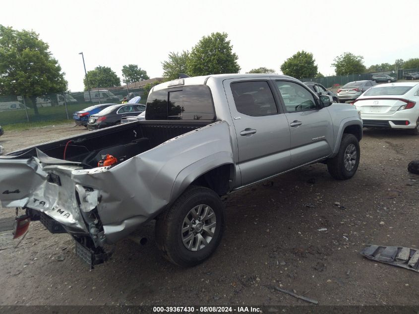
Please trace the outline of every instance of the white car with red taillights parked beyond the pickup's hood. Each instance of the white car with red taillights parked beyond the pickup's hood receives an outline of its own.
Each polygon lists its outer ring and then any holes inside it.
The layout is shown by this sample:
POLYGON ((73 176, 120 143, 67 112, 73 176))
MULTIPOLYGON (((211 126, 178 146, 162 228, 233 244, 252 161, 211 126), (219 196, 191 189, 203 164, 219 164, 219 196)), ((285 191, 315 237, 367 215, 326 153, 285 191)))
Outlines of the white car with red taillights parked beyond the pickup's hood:
POLYGON ((419 83, 371 87, 354 101, 364 127, 406 129, 419 134, 419 83))

